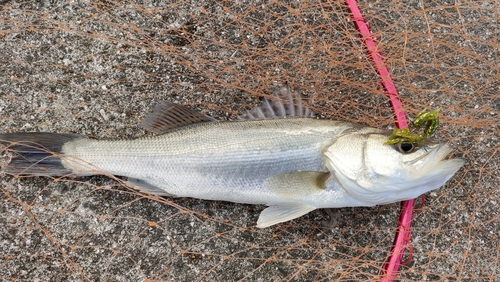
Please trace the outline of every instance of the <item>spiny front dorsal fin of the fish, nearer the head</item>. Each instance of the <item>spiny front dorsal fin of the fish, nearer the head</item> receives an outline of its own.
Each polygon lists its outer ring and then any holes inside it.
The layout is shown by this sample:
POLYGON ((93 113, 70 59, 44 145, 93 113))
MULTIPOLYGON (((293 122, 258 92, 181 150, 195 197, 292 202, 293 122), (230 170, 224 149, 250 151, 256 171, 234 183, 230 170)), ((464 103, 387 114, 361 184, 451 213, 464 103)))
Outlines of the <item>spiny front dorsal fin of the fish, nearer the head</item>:
POLYGON ((288 83, 281 89, 274 91, 276 99, 264 99, 260 107, 254 107, 250 111, 238 117, 240 120, 272 119, 286 117, 314 117, 314 113, 307 108, 302 100, 300 89, 290 89, 288 83))

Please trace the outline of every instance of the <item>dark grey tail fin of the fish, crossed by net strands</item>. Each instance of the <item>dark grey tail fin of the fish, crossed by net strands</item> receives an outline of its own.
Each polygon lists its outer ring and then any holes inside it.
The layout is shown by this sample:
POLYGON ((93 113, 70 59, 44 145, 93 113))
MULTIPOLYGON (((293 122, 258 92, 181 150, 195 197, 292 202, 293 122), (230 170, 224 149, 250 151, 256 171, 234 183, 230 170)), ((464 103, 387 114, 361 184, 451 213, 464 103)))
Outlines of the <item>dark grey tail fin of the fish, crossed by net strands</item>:
POLYGON ((72 174, 61 162, 64 144, 86 138, 67 133, 0 134, 0 166, 12 175, 63 176, 72 174))

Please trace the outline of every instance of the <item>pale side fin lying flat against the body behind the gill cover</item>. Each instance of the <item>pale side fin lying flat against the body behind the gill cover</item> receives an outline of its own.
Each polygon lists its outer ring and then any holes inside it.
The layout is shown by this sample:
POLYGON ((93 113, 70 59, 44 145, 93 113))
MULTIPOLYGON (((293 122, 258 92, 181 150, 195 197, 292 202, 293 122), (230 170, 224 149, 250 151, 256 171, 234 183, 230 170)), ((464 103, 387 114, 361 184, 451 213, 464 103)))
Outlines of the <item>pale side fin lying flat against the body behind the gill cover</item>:
POLYGON ((266 185, 283 198, 301 199, 323 191, 329 178, 328 172, 292 171, 267 178, 266 185))

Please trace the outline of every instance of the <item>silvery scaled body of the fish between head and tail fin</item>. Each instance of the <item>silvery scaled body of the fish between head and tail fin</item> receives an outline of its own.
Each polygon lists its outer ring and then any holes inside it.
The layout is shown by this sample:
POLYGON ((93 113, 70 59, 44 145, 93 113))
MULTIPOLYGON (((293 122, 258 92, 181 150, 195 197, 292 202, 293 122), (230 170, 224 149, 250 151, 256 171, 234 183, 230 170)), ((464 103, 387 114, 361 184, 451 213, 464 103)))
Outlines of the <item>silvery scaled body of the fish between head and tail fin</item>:
MULTIPOLYGON (((91 169, 146 179, 176 196, 273 205, 280 200, 273 201, 265 180, 291 171, 327 172, 321 151, 347 128, 315 119, 208 123, 136 140, 82 138, 62 152, 96 167, 91 169), (224 131, 225 138, 217 138, 224 131), (245 196, 235 199, 234 191, 245 196)), ((89 173, 86 163, 63 159, 82 173, 89 173)))

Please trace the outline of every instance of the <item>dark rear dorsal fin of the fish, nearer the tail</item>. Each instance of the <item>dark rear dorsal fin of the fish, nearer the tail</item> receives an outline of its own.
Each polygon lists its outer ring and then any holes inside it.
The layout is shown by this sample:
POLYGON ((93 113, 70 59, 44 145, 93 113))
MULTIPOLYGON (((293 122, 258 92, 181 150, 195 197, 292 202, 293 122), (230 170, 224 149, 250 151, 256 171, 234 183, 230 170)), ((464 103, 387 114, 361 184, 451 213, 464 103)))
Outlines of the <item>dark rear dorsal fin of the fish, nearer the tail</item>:
POLYGON ((217 120, 185 106, 165 101, 156 105, 140 126, 155 134, 163 134, 178 127, 214 121, 217 120))

